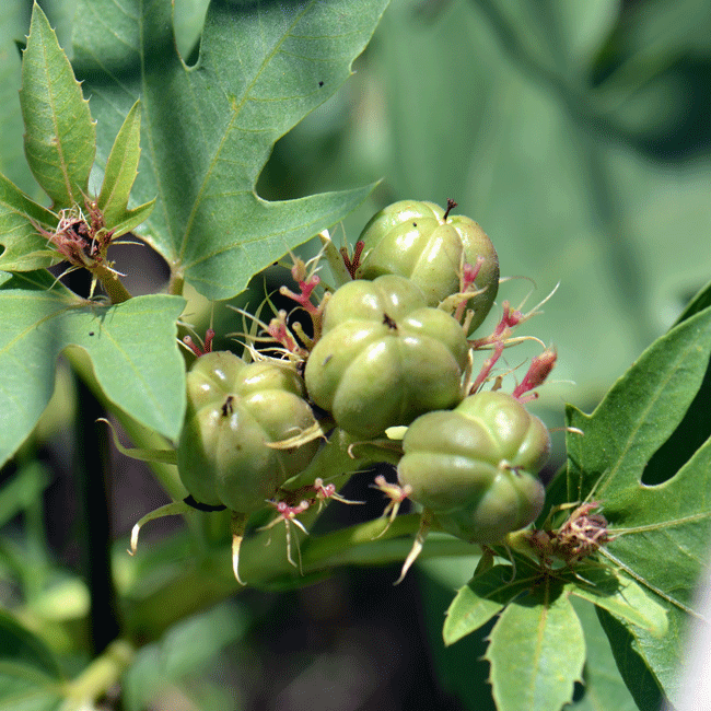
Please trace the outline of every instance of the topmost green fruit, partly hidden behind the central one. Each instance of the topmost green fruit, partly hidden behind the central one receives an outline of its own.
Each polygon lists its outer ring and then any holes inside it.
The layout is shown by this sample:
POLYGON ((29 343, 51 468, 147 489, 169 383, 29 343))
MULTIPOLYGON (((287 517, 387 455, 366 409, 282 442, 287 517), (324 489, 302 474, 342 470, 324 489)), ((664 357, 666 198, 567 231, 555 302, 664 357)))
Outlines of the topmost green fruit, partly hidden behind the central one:
POLYGON ((365 257, 357 276, 375 279, 393 273, 411 279, 436 306, 459 291, 464 263, 483 259, 476 289, 485 291, 467 302, 474 311, 471 328, 486 318, 499 290, 499 257, 483 230, 464 215, 446 215, 433 202, 400 200, 377 212, 361 233, 365 257))

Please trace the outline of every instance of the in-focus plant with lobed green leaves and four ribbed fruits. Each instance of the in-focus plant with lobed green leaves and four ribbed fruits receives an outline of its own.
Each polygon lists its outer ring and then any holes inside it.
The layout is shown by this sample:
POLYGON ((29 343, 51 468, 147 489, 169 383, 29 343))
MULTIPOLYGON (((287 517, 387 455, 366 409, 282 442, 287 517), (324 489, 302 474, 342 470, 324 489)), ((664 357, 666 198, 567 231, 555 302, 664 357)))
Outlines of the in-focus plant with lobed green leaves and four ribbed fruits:
MULTIPOLYGON (((327 228, 373 186, 257 195, 275 142, 346 80, 387 0, 212 2, 193 66, 175 49, 171 3, 138 4, 115 25, 77 24, 73 67, 35 4, 20 101, 27 166, 48 207, 0 176, 0 463, 31 456, 65 354, 139 447, 121 451, 152 459, 173 500, 136 524, 131 552, 141 526, 164 514, 185 513, 200 544, 195 564, 174 566, 144 607, 116 575, 133 615, 126 637, 145 641, 151 622, 137 621, 137 608, 168 610, 171 625, 235 592, 235 579, 289 587, 337 566, 396 560, 401 580, 418 557, 464 553, 478 562, 444 641, 496 619, 486 658, 499 709, 557 711, 575 681, 591 689, 609 677, 595 666, 599 645, 587 652, 602 636, 579 601, 595 606, 638 706, 658 708, 660 690, 674 701, 711 539, 711 288, 592 415, 568 407, 567 465, 544 489, 550 435, 528 405, 557 354, 538 341, 527 368, 502 366, 506 349, 536 341, 518 326, 538 311, 499 293, 485 231, 452 200, 401 200, 339 249, 327 228), (167 293, 132 296, 124 285, 113 250, 128 233, 165 259, 167 293), (317 257, 290 252, 314 235, 317 257), (185 336, 195 313, 185 285, 219 314, 261 270, 271 278, 273 263, 288 268, 279 294, 217 327, 231 350, 214 348, 212 329, 185 336), (91 277, 84 295, 65 283, 72 270, 91 277), (693 446, 691 431, 701 432, 693 446), (364 474, 380 462, 389 480, 364 474), (353 475, 382 497, 383 516, 320 534, 327 505, 356 503, 342 490, 353 475), (406 501, 412 513, 398 515, 406 501), (189 599, 173 613, 177 590, 189 599)), ((18 629, 34 658, 37 638, 18 629)), ((30 676, 49 673, 56 697, 68 688, 58 668, 30 676)))

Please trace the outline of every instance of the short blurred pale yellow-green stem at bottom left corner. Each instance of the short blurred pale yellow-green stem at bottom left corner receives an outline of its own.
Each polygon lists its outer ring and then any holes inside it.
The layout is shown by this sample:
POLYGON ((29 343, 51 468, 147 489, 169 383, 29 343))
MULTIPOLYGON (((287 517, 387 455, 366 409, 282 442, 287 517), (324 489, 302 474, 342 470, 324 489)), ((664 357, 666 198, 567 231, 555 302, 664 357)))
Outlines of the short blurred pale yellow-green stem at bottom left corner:
POLYGON ((62 711, 95 708, 95 702, 118 684, 133 656, 133 648, 128 642, 116 640, 109 644, 101 656, 65 686, 62 711))

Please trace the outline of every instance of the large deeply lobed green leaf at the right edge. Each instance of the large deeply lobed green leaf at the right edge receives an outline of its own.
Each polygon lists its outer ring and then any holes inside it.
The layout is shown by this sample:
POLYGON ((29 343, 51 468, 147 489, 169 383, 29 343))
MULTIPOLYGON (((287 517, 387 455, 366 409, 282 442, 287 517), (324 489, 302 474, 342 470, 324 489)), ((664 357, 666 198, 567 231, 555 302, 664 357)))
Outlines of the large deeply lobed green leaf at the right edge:
POLYGON ((661 639, 608 609, 627 627, 672 702, 688 615, 696 615, 695 586, 711 543, 711 439, 663 483, 645 486, 642 476, 692 401, 710 353, 711 308, 706 308, 655 341, 592 416, 568 410, 568 424, 584 432, 568 435, 569 494, 602 502, 614 536, 604 556, 666 609, 668 630, 661 639))

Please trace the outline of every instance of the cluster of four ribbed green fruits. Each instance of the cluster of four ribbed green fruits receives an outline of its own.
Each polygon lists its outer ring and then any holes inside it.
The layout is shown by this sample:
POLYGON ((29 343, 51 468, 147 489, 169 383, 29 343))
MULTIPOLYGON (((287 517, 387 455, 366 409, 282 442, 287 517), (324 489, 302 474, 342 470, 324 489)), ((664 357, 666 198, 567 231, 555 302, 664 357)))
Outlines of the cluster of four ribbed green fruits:
MULTIPOLYGON (((354 278, 318 306, 308 301, 318 323, 298 358, 196 360, 178 470, 194 501, 233 512, 235 540, 328 427, 371 442, 407 427, 397 489, 428 526, 496 543, 540 513, 546 427, 514 395, 471 381, 469 339, 497 296, 497 253, 452 207, 400 201, 378 212, 361 235, 362 261, 346 258, 354 278)), ((302 282, 302 303, 315 283, 302 282)))

